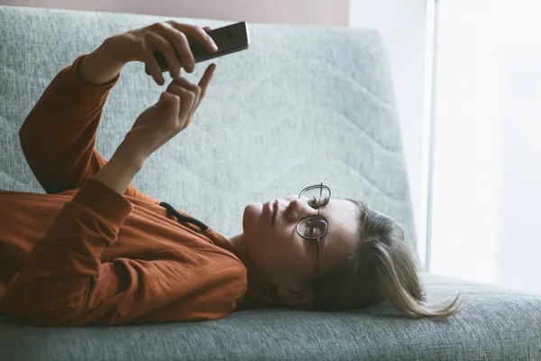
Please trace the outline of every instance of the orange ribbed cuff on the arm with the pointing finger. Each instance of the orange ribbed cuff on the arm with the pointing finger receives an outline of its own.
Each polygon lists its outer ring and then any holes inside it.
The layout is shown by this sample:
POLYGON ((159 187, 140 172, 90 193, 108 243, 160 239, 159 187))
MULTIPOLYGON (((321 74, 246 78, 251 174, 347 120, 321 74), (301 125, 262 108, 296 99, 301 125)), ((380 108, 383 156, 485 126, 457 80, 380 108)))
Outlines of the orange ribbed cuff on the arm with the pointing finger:
POLYGON ((89 208, 109 222, 121 225, 133 209, 133 204, 94 177, 88 177, 71 200, 89 208))

